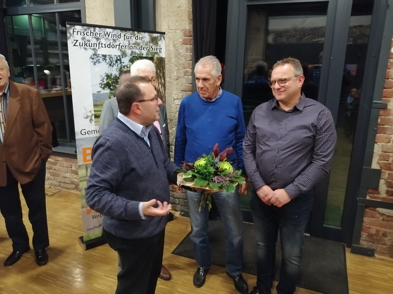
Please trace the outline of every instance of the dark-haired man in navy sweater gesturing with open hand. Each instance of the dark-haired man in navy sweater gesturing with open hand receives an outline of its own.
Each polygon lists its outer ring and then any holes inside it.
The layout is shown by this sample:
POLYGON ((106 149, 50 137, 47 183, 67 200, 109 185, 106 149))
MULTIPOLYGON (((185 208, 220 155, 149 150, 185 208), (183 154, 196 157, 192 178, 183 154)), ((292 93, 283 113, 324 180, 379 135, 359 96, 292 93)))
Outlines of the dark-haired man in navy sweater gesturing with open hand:
POLYGON ((105 238, 119 255, 116 294, 153 294, 177 167, 153 127, 160 109, 150 79, 131 77, 116 98, 119 114, 93 146, 86 203, 104 215, 105 238))

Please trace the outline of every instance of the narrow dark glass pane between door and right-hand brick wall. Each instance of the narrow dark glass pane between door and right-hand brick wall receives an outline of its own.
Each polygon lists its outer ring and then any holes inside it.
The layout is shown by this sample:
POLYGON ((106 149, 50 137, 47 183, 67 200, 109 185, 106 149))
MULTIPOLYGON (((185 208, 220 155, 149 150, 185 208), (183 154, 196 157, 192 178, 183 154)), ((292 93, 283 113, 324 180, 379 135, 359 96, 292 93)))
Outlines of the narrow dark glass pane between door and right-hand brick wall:
POLYGON ((342 85, 337 116, 337 145, 330 172, 325 224, 341 226, 342 212, 353 139, 358 120, 358 110, 365 69, 368 36, 371 24, 372 0, 354 1, 342 70, 342 85))

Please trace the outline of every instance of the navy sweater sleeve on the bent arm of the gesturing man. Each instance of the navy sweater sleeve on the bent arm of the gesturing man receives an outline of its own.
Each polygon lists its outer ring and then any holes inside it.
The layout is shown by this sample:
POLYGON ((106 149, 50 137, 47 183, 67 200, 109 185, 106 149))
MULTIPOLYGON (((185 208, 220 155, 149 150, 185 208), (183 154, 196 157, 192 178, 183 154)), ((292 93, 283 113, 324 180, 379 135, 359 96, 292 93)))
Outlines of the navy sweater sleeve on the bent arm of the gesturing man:
POLYGON ((99 137, 94 144, 93 163, 85 193, 86 204, 93 210, 112 218, 140 220, 138 209, 140 201, 132 201, 115 194, 116 187, 123 179, 124 165, 127 162, 116 153, 119 149, 121 150, 118 146, 112 146, 104 137, 99 137))

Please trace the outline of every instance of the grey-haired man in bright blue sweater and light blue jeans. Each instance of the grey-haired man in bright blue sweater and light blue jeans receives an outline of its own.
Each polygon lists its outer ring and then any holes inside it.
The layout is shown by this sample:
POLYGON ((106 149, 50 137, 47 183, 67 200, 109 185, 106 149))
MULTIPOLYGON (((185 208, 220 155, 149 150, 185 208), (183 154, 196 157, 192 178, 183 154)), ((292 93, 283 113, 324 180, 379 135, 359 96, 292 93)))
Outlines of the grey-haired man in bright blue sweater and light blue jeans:
MULTIPOLYGON (((221 64, 215 56, 205 56, 195 65, 197 93, 183 98, 177 118, 174 162, 195 162, 203 154, 212 152, 216 143, 224 150, 233 147, 228 161, 234 168, 244 171, 243 138, 246 127, 242 102, 239 97, 221 89, 221 64)), ((176 189, 176 187, 174 187, 176 189)), ((211 266, 211 249, 208 243, 209 212, 200 211, 196 201, 202 192, 186 191, 191 221, 191 241, 194 244, 197 271, 194 285, 202 287, 211 266)), ((226 230, 226 273, 232 278, 240 293, 248 293, 243 278, 244 227, 240 207, 240 194, 247 193, 247 186, 239 185, 236 192, 216 192, 212 196, 217 204, 226 230)))

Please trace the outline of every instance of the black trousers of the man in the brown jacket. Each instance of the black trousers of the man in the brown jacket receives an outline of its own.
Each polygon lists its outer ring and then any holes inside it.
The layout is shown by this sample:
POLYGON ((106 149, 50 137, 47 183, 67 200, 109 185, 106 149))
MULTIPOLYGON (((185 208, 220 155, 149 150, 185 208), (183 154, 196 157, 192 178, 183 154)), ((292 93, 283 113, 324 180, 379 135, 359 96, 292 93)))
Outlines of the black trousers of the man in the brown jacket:
MULTIPOLYGON (((45 203, 45 166, 42 165, 34 179, 21 185, 22 194, 28 206, 28 220, 33 229, 33 247, 35 250, 49 246, 48 222, 45 203)), ((18 181, 7 167, 7 185, 0 187, 0 211, 5 220, 5 228, 12 240, 14 250, 23 250, 28 245, 28 232, 22 220, 22 206, 19 196, 18 181)))

